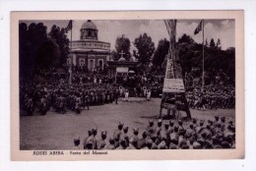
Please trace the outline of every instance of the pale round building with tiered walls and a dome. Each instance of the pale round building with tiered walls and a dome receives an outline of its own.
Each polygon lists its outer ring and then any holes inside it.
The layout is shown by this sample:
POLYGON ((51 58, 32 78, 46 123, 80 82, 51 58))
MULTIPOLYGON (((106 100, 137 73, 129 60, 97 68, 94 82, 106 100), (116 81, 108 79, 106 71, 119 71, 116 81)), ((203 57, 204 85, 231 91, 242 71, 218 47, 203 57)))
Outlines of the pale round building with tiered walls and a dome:
POLYGON ((96 67, 103 68, 110 58, 110 43, 97 39, 96 25, 87 21, 80 29, 80 40, 71 41, 68 64, 87 67, 93 71, 96 67))

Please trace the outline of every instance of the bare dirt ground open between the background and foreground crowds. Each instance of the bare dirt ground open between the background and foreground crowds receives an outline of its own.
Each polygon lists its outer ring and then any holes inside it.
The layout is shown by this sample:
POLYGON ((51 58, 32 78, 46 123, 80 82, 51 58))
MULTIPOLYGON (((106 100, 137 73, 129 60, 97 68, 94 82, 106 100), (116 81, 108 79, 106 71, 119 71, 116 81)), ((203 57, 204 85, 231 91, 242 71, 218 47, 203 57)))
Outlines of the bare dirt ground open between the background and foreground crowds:
MULTIPOLYGON (((36 112, 32 116, 21 115, 21 149, 70 149, 75 136, 80 136, 83 142, 88 130, 92 128, 97 128, 97 138, 100 138, 101 131, 107 131, 108 140, 113 136, 119 121, 129 127, 129 134, 137 127, 141 135, 148 126, 149 120, 154 120, 156 125, 160 112, 160 98, 153 98, 151 101, 143 98, 130 98, 130 100, 127 102, 120 99, 118 104, 91 106, 90 110, 83 110, 79 115, 71 111, 59 114, 53 110, 47 112, 45 116, 40 116, 36 112)), ((191 109, 190 111, 193 118, 202 120, 214 120, 216 115, 225 116, 226 121, 235 118, 234 109, 205 111, 191 109)), ((186 128, 188 123, 184 125, 186 128)), ((80 144, 81 148, 82 146, 83 144, 80 144)))

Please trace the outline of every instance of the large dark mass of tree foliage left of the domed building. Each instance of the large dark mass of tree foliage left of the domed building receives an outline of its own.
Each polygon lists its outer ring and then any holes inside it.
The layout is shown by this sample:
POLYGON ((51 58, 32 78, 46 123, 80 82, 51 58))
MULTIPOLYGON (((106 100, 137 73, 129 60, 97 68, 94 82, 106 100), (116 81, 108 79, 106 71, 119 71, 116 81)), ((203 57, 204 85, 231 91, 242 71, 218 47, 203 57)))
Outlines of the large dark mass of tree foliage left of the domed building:
POLYGON ((19 25, 21 77, 32 77, 36 70, 62 67, 69 53, 69 39, 64 28, 53 26, 47 34, 42 23, 19 25))

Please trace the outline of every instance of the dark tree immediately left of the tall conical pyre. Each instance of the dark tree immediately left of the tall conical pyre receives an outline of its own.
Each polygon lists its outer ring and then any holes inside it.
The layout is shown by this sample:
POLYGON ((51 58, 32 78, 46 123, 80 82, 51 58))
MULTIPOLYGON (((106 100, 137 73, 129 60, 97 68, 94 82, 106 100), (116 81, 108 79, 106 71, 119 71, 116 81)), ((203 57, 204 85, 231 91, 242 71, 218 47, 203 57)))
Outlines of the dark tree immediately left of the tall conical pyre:
POLYGON ((155 67, 160 67, 165 59, 169 49, 169 41, 164 38, 160 39, 157 50, 154 53, 152 63, 155 67))

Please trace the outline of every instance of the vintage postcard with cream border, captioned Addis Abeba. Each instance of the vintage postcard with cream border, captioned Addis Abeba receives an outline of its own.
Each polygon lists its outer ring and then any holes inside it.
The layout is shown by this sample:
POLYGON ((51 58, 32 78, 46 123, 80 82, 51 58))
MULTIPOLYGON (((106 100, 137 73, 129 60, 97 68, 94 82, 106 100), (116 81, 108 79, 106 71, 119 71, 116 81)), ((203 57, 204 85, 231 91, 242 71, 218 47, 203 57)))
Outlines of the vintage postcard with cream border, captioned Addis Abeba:
POLYGON ((244 158, 243 11, 11 13, 11 159, 244 158))

